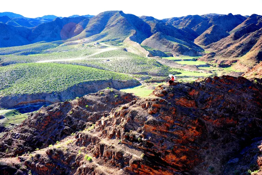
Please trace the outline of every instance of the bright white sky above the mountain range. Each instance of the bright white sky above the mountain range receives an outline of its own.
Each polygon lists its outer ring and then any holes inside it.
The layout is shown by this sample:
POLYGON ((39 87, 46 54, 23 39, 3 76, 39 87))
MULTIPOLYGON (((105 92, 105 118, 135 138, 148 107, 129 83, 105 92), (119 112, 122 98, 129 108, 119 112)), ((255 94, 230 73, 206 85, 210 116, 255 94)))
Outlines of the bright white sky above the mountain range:
POLYGON ((107 10, 123 10, 157 19, 206 13, 262 15, 262 0, 8 0, 1 1, 0 5, 0 12, 24 17, 97 15, 107 10))

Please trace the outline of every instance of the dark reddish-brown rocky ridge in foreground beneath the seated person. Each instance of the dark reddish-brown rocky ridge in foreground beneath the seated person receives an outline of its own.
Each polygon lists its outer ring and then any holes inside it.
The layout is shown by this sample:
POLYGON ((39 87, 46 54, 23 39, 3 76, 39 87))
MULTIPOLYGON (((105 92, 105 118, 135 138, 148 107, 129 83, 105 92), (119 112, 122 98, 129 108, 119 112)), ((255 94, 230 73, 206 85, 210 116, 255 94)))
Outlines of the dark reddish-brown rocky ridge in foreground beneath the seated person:
MULTIPOLYGON (((261 92, 261 85, 244 77, 215 76, 159 85, 146 98, 109 89, 52 104, 3 136, 0 169, 2 174, 234 174, 231 161, 245 173, 247 159, 232 159, 246 146, 261 144, 252 144, 262 136, 261 92)), ((261 166, 256 156, 252 163, 252 171, 261 166)))

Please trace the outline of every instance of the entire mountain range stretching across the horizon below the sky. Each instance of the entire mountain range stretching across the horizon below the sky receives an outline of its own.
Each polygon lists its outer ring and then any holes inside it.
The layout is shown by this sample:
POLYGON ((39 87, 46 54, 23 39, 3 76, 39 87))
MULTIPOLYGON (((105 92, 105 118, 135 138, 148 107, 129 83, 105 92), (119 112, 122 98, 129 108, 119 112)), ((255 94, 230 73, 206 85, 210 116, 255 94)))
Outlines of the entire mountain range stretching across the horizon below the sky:
POLYGON ((261 58, 262 16, 222 14, 187 15, 158 20, 123 11, 105 11, 96 16, 46 15, 26 18, 1 13, 0 47, 39 41, 123 42, 126 38, 173 55, 201 56, 201 60, 236 63, 251 69, 261 58), (9 15, 9 16, 7 16, 9 15))

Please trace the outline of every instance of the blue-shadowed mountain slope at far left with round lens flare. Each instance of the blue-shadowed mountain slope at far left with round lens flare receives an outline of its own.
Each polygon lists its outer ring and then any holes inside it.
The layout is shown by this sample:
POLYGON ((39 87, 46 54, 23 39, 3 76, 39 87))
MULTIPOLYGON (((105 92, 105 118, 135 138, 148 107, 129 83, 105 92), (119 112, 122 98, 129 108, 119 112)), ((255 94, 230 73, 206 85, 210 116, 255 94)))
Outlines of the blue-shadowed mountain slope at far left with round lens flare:
POLYGON ((21 46, 39 41, 66 40, 84 30, 86 17, 56 18, 51 22, 27 28, 0 23, 0 47, 21 46), (82 23, 79 23, 81 22, 82 23), (78 24, 79 23, 79 24, 78 24))

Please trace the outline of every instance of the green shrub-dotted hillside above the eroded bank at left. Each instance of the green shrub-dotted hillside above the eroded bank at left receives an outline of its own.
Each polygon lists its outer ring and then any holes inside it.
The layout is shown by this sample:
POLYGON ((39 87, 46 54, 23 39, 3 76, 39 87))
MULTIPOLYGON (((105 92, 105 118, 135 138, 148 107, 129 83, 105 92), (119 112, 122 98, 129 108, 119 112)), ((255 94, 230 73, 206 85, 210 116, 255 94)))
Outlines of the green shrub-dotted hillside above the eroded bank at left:
POLYGON ((0 95, 61 92, 87 81, 130 79, 125 74, 71 64, 12 64, 0 67, 0 95))

